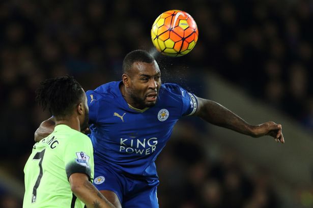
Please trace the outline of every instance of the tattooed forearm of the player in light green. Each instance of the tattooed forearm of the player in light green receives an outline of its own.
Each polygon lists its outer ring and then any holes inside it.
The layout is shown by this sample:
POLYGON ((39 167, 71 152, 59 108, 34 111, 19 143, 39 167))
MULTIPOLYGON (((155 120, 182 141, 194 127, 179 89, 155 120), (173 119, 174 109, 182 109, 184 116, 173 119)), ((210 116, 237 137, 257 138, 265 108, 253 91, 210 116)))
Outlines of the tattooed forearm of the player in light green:
POLYGON ((73 193, 88 208, 115 208, 92 183, 85 181, 82 186, 72 189, 73 193))

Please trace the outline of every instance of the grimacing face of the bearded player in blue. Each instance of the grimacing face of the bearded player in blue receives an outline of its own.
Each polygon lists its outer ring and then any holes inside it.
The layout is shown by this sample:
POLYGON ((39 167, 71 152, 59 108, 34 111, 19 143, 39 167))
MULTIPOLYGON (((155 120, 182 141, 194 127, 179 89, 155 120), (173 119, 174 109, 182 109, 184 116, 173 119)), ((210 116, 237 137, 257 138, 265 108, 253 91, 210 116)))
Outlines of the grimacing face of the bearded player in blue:
POLYGON ((130 96, 136 105, 145 108, 156 104, 161 86, 161 72, 154 63, 135 62, 132 65, 130 96))

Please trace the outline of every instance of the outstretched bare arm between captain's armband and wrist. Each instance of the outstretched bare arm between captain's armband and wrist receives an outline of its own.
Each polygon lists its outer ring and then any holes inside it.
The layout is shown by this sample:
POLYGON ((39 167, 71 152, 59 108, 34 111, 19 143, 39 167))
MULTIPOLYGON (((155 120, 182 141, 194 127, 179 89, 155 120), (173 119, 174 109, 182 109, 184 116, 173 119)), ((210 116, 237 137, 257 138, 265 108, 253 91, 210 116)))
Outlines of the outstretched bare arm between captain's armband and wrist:
POLYGON ((241 117, 214 101, 205 99, 201 100, 201 111, 196 112, 199 117, 216 126, 231 129, 245 135, 254 136, 254 126, 246 123, 241 117))

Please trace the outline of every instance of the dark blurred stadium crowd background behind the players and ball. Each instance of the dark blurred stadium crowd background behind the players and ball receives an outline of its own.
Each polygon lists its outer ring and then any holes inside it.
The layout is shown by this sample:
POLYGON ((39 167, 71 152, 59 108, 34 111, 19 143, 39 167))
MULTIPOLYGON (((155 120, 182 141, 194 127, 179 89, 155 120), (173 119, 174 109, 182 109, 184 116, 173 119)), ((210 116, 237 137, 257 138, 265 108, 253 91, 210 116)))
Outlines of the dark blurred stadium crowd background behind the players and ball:
POLYGON ((153 49, 152 23, 170 9, 195 19, 199 40, 157 57, 162 81, 249 123, 281 123, 286 144, 184 119, 157 160, 160 207, 313 207, 313 2, 302 0, 1 1, 0 207, 21 207, 23 166, 49 117, 34 101, 40 81, 120 80, 123 57, 153 49))

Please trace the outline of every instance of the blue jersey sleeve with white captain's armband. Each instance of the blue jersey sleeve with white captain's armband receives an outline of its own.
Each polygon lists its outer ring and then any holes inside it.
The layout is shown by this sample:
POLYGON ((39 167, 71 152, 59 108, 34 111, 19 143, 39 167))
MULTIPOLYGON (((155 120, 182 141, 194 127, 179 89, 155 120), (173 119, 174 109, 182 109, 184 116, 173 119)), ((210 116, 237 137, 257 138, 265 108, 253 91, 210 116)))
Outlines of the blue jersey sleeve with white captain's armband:
POLYGON ((196 111, 197 100, 195 95, 189 93, 178 84, 166 84, 166 88, 181 100, 181 115, 192 115, 196 111))

